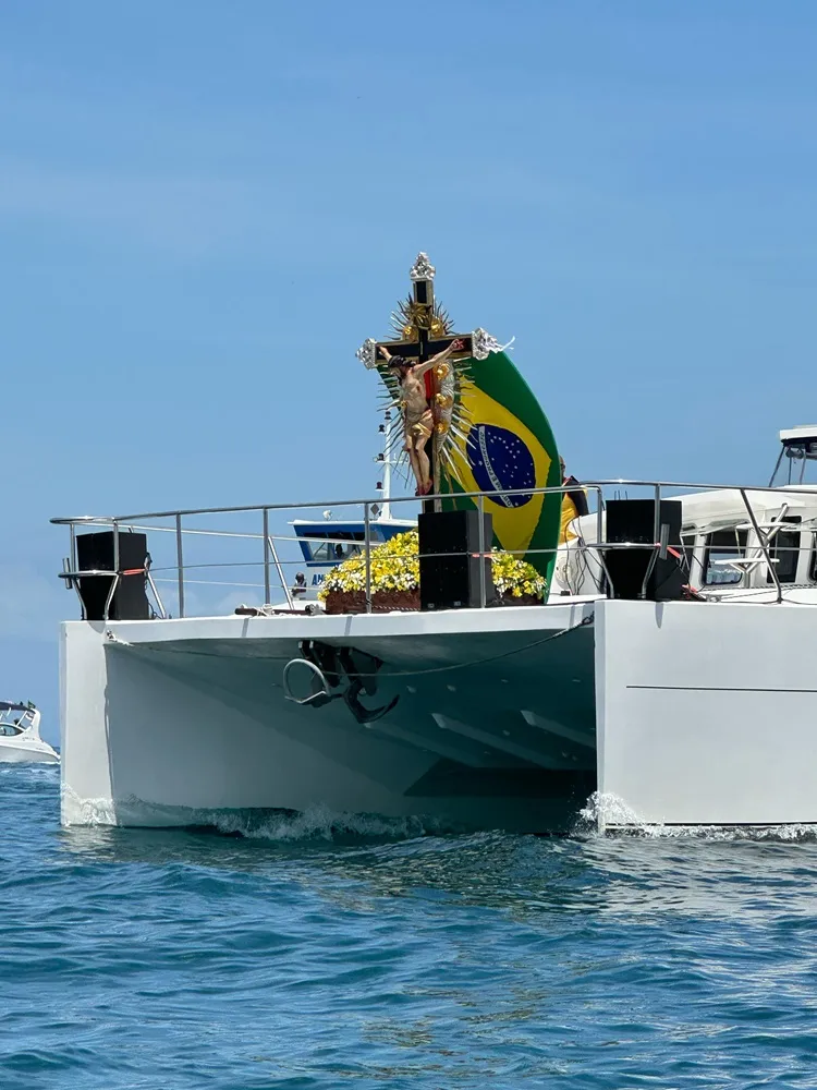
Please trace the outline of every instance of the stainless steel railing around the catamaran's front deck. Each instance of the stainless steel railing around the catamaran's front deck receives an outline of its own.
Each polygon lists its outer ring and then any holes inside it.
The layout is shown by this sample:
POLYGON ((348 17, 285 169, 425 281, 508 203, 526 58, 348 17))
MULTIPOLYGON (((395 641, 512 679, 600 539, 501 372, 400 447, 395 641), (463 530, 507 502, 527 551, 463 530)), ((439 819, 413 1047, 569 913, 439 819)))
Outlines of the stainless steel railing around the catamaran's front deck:
MULTIPOLYGON (((605 578, 606 593, 614 593, 614 588, 610 579, 610 573, 605 562, 605 554, 610 549, 615 548, 645 548, 643 543, 607 543, 602 541, 603 537, 603 511, 605 511, 605 496, 610 489, 614 489, 617 493, 625 491, 629 495, 631 489, 648 489, 651 493, 655 506, 655 522, 654 522, 654 542, 651 545, 646 547, 654 548, 654 556, 650 560, 650 567, 657 561, 659 555, 666 555, 667 543, 662 541, 661 522, 660 522, 660 511, 661 511, 661 499, 662 498, 680 498, 680 495, 693 493, 704 493, 704 492, 716 492, 716 491, 727 491, 736 494, 742 504, 746 509, 749 522, 753 526, 753 531, 756 537, 757 548, 760 549, 767 570, 770 572, 770 578, 775 584, 776 598, 778 602, 782 601, 783 592, 780 580, 778 579, 777 572, 775 570, 776 565, 772 562, 773 558, 769 553, 770 537, 761 529, 760 523, 757 520, 755 511, 753 510, 752 502, 749 500, 748 493, 753 494, 772 494, 775 497, 789 497, 789 496, 807 496, 814 500, 815 512, 817 513, 817 493, 814 488, 808 487, 796 487, 786 486, 783 488, 771 488, 769 486, 758 486, 758 487, 747 487, 740 485, 714 485, 714 484, 698 484, 693 482, 667 482, 667 481, 639 481, 639 480, 625 480, 625 479, 613 479, 603 481, 585 481, 581 483, 582 488, 589 498, 595 500, 595 523, 596 523, 596 541, 588 542, 582 546, 582 548, 593 553, 599 564, 605 578)), ((483 493, 463 493, 461 498, 471 498, 475 501, 477 510, 481 516, 485 511, 485 500, 486 499, 502 499, 503 497, 513 496, 538 496, 548 494, 560 494, 571 492, 575 488, 575 484, 559 485, 549 488, 513 488, 513 489, 502 489, 483 493)), ((450 499, 448 496, 429 496, 426 499, 450 499)), ((118 514, 118 516, 72 516, 65 518, 54 518, 51 522, 57 525, 68 525, 70 530, 70 557, 66 558, 66 564, 64 570, 60 573, 68 585, 77 586, 77 580, 83 576, 101 574, 100 572, 92 572, 89 570, 82 571, 77 567, 77 556, 76 556, 76 533, 80 529, 94 528, 110 528, 113 531, 113 568, 114 574, 120 578, 122 572, 120 572, 120 534, 130 533, 132 531, 144 531, 150 533, 170 533, 174 537, 175 542, 175 562, 168 565, 163 568, 154 566, 154 574, 160 570, 175 570, 175 594, 178 600, 178 616, 184 617, 186 609, 185 602, 185 588, 186 585, 192 585, 190 579, 185 580, 185 570, 190 571, 191 568, 212 568, 219 567, 221 565, 214 564, 200 564, 191 565, 185 564, 185 548, 184 540, 195 538, 195 537, 207 537, 207 538, 220 538, 228 537, 233 541, 243 540, 247 542, 261 542, 261 557, 260 559, 249 560, 249 561, 239 561, 228 565, 225 567, 240 567, 244 565, 252 565, 263 567, 263 589, 265 602, 270 602, 271 591, 272 591, 272 580, 271 572, 275 569, 278 580, 281 585, 282 593, 286 601, 286 606, 291 609, 293 608, 292 592, 290 589, 290 581, 285 577, 284 566, 288 564, 297 564, 298 566, 304 565, 303 558, 300 560, 289 561, 281 558, 279 555, 278 545, 282 543, 300 542, 294 534, 278 534, 270 532, 270 517, 273 514, 281 514, 284 512, 304 512, 304 511, 324 511, 327 508, 332 510, 351 510, 351 509, 363 509, 363 518, 355 518, 351 521, 363 521, 364 524, 364 540, 359 543, 363 547, 365 554, 365 600, 367 611, 371 610, 371 548, 381 545, 382 542, 375 541, 373 538, 373 526, 376 525, 376 520, 373 519, 371 511, 377 505, 381 505, 381 499, 351 499, 351 500, 332 500, 332 501, 313 501, 308 504, 259 504, 251 506, 235 506, 235 507, 212 507, 212 508, 188 508, 188 509, 176 509, 170 511, 148 511, 141 513, 131 514, 118 514), (253 531, 233 531, 233 530, 217 530, 217 529, 205 529, 197 526, 190 526, 185 524, 185 520, 192 518, 210 518, 210 517, 225 517, 225 516, 242 516, 242 517, 253 517, 257 519, 260 516, 260 526, 253 531), (157 525, 157 521, 168 520, 170 525, 157 525)), ((416 497, 398 497, 390 499, 391 505, 416 505, 418 500, 416 497)), ((593 516, 592 516, 593 517, 593 516)), ((329 530, 329 528, 328 528, 329 530)), ((327 535, 326 538, 321 537, 320 541, 326 541, 339 544, 349 545, 347 538, 332 538, 327 535)), ((358 544, 358 543, 354 543, 358 544)), ((490 552, 490 543, 485 541, 485 530, 483 519, 479 519, 479 555, 485 557, 490 552)), ((541 549, 539 552, 552 552, 541 549)), ((111 574, 107 572, 107 574, 111 574)), ((154 588, 155 595, 158 598, 158 592, 156 592, 155 583, 151 577, 151 586, 154 588)), ((649 572, 645 576, 643 592, 646 591, 646 585, 649 581, 649 572)), ((106 616, 113 597, 113 592, 115 591, 117 580, 112 580, 111 593, 108 597, 108 604, 106 607, 106 616)), ((212 584, 216 585, 216 584, 212 584)), ((239 585, 239 584, 234 584, 239 585)), ((260 584, 258 584, 260 586, 260 584)), ((480 603, 484 606, 486 604, 486 576, 484 566, 480 565, 480 603)), ((161 600, 158 598, 160 604, 160 616, 166 614, 163 606, 161 605, 161 600)))

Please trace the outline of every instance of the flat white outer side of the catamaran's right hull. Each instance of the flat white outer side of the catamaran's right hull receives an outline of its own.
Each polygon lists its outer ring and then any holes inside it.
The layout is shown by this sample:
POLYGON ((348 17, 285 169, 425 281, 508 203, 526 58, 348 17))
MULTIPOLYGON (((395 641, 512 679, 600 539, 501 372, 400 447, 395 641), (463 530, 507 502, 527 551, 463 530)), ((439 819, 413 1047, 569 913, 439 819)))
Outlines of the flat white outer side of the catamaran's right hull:
POLYGON ((817 822, 817 608, 605 602, 601 823, 817 822))

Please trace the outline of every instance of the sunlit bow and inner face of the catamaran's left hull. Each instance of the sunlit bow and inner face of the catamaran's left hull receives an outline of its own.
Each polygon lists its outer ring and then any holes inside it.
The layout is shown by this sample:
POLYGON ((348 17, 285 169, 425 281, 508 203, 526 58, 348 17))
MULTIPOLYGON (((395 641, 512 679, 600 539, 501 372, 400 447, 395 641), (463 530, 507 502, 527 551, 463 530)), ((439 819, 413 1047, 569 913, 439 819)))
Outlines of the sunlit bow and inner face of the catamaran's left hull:
POLYGON ((72 630, 66 642, 64 824, 95 814, 186 824, 184 810, 343 809, 355 798, 374 809, 387 804, 364 775, 230 706, 229 699, 242 699, 237 689, 216 700, 149 662, 106 650, 92 626, 72 630), (180 810, 169 822, 168 807, 180 810))

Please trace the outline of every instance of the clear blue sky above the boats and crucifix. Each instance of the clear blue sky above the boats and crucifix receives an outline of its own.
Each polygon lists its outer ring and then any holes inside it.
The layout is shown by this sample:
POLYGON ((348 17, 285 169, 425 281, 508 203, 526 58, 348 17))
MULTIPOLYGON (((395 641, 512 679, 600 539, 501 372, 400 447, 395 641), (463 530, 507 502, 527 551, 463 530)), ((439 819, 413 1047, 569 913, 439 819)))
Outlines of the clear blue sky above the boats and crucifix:
POLYGON ((370 493, 418 250, 570 468, 765 483, 817 417, 817 7, 5 0, 0 691, 53 514, 370 493))

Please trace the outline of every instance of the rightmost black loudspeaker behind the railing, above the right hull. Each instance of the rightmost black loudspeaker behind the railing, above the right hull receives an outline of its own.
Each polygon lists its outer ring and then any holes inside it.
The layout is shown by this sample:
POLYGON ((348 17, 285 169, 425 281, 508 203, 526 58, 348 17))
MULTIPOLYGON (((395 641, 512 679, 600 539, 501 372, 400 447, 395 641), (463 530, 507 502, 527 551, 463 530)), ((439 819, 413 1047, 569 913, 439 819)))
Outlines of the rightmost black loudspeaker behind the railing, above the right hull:
MULTIPOLYGON (((653 572, 647 580, 646 597, 653 602, 670 602, 683 597, 683 586, 690 582, 688 572, 683 568, 681 544, 681 500, 662 499, 659 526, 670 528, 666 559, 656 558, 653 572)), ((656 555, 656 505, 653 499, 611 499, 607 504, 608 544, 631 542, 647 548, 605 549, 605 562, 612 582, 613 597, 639 598, 644 577, 650 559, 656 555)))

